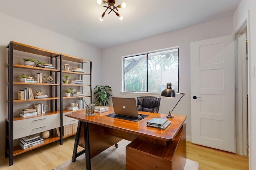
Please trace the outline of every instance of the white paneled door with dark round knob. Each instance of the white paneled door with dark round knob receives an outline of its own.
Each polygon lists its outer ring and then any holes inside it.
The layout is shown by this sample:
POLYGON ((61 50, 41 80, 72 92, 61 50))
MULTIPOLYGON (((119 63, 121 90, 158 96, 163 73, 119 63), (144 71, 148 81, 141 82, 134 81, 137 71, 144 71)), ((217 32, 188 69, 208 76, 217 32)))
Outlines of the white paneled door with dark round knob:
POLYGON ((190 57, 192 143, 235 152, 233 35, 191 43, 190 57))

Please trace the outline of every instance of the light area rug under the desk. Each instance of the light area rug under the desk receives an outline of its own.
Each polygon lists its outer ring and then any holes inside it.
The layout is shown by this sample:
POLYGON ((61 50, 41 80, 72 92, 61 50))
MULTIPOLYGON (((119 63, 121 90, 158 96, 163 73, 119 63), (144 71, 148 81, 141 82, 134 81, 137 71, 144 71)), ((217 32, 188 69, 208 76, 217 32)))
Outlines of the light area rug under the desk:
MULTIPOLYGON (((122 140, 118 148, 110 147, 91 159, 92 170, 125 170, 125 147, 130 141, 122 140)), ((193 160, 186 160, 184 170, 198 170, 199 163, 193 160)), ((86 169, 85 154, 71 159, 56 166, 53 170, 84 170, 86 169)))

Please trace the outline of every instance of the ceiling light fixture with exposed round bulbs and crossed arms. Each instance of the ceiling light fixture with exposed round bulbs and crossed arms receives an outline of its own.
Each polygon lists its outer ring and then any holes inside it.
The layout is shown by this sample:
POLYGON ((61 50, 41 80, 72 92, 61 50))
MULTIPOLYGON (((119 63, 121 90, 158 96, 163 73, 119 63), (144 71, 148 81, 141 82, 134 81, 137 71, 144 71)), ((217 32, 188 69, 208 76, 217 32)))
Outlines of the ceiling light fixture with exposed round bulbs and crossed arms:
MULTIPOLYGON (((126 7, 126 3, 123 2, 122 4, 118 5, 118 6, 115 6, 115 3, 116 3, 116 0, 97 0, 97 3, 98 4, 108 4, 108 6, 104 6, 106 7, 107 9, 105 10, 105 12, 103 12, 102 16, 100 16, 100 21, 103 21, 104 19, 104 15, 106 14, 106 11, 108 9, 110 9, 110 12, 111 11, 114 11, 114 13, 116 13, 116 16, 118 16, 119 20, 122 20, 123 19, 123 16, 118 14, 118 9, 117 8, 125 8, 126 7), (116 10, 116 11, 115 11, 116 10)), ((108 14, 110 13, 108 12, 108 14)))

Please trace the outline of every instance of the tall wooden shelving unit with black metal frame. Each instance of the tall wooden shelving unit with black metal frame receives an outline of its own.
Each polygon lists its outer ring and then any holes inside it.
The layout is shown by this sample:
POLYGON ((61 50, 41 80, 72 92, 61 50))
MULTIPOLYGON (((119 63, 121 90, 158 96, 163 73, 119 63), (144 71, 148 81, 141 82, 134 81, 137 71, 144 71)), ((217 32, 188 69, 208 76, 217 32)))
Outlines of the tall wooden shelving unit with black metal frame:
MULTIPOLYGON (((62 91, 63 91, 63 86, 68 87, 68 86, 80 86, 81 89, 83 90, 83 86, 91 86, 92 84, 92 62, 88 61, 86 59, 80 59, 77 57, 73 57, 70 55, 62 55, 61 53, 56 53, 53 51, 48 51, 45 49, 40 49, 37 47, 33 47, 30 45, 25 45, 22 43, 17 43, 14 41, 10 41, 8 44, 7 48, 9 49, 8 52, 8 118, 5 119, 5 157, 9 158, 9 166, 13 164, 13 159, 14 156, 18 154, 22 154, 24 152, 27 152, 29 150, 41 147, 43 145, 47 145, 48 143, 52 143, 55 141, 60 141, 60 145, 62 145, 62 139, 66 137, 70 137, 72 135, 75 135, 76 133, 71 133, 69 135, 63 135, 63 116, 64 113, 70 113, 72 111, 63 109, 63 99, 68 99, 68 97, 63 97, 62 96, 62 91), (36 66, 25 66, 21 64, 17 64, 16 61, 14 61, 14 51, 22 51, 25 53, 31 53, 35 55, 39 55, 40 57, 46 57, 44 59, 48 60, 50 64, 54 64, 55 69, 50 69, 50 68, 40 68, 36 66), (85 63, 90 63, 90 72, 89 73, 81 73, 81 72, 71 72, 71 71, 66 71, 62 70, 62 61, 69 61, 69 62, 75 62, 78 64, 81 64, 81 68, 83 68, 85 63), (42 72, 48 72, 50 76, 54 78, 55 83, 24 83, 24 82, 16 82, 14 81, 14 70, 15 69, 24 69, 24 70, 31 70, 31 72, 36 72, 42 71, 42 72), (83 80, 83 76, 90 76, 90 82, 87 84, 62 84, 62 73, 65 74, 77 74, 80 76, 83 80), (56 83, 60 82, 60 83, 56 83), (28 87, 38 87, 42 86, 46 89, 49 89, 49 96, 48 98, 40 98, 40 99, 30 99, 30 100, 17 100, 17 98, 14 97, 14 94, 17 92, 14 92, 14 86, 15 87, 22 87, 22 86, 28 86, 28 87), (26 103, 26 102, 40 102, 40 101, 47 101, 50 102, 50 109, 49 111, 46 111, 44 114, 40 115, 35 115, 35 116, 30 116, 30 117, 21 117, 21 116, 15 116, 14 115, 14 107, 18 103, 26 103), (57 110, 57 108, 60 108, 60 110, 57 110), (54 120, 52 120, 52 117, 54 117, 54 120), (49 119, 50 118, 50 119, 49 119), (17 128, 17 123, 23 123, 24 126, 26 126, 26 123, 28 121, 37 121, 38 120, 48 120, 50 122, 46 122, 45 126, 44 123, 42 123, 42 127, 35 128, 35 129, 42 129, 42 130, 37 130, 34 134, 40 133, 42 131, 45 131, 44 127, 47 127, 47 123, 50 124, 49 128, 51 129, 56 129, 60 128, 60 136, 58 137, 57 135, 50 134, 50 137, 47 139, 44 139, 44 143, 40 145, 36 145, 34 147, 30 147, 28 149, 22 149, 19 145, 14 146, 14 140, 18 140, 20 138, 17 138, 17 135, 15 132, 17 128), (52 122, 51 122, 52 121, 52 122)), ((90 101, 92 102, 92 88, 90 87, 90 95, 86 96, 72 96, 69 97, 70 99, 83 99, 83 98, 90 98, 90 101)), ((20 108, 24 109, 24 108, 20 108)), ((70 119, 70 117, 67 117, 70 119)), ((65 117, 66 119, 66 117, 65 117)), ((39 124, 39 123, 38 123, 39 124)), ((35 123, 33 126, 36 126, 37 124, 35 123)), ((26 128, 30 128, 30 125, 28 123, 26 128)), ((32 128, 32 125, 31 125, 32 128)), ((34 127, 33 127, 34 128, 34 127)), ((33 130, 33 129, 32 129, 33 130)), ((50 130, 50 129, 46 129, 50 130)), ((32 132, 33 133, 33 132, 32 132)), ((20 134, 19 134, 20 135, 20 134)), ((27 136, 27 135, 26 135, 27 136)))

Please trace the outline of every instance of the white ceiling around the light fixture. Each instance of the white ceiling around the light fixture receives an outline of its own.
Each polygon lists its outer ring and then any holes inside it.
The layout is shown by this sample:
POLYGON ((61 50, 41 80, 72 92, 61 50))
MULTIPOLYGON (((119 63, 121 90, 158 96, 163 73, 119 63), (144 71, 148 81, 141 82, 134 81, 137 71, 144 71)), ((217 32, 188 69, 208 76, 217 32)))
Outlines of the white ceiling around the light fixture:
POLYGON ((96 0, 0 0, 0 12, 104 49, 231 16, 240 0, 116 0, 122 21, 96 0))

